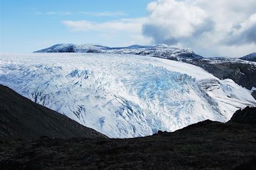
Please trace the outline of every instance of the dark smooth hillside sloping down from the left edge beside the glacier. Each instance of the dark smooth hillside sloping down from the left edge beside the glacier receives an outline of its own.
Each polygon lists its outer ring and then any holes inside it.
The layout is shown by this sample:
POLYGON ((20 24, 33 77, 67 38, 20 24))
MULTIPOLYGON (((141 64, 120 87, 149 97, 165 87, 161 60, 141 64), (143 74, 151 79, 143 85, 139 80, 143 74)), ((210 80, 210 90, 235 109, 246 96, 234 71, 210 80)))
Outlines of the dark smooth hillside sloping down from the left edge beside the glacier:
POLYGON ((106 137, 0 84, 0 139, 106 137))

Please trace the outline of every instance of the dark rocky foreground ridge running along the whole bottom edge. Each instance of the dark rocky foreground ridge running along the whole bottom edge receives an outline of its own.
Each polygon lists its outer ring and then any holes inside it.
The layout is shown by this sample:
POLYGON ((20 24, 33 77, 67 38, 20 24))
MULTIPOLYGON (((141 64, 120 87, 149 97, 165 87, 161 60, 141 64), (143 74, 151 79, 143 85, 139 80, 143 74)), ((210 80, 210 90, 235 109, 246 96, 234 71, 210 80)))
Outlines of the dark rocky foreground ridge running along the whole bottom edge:
POLYGON ((255 158, 255 107, 228 123, 206 120, 148 137, 0 143, 2 169, 255 169, 255 158))

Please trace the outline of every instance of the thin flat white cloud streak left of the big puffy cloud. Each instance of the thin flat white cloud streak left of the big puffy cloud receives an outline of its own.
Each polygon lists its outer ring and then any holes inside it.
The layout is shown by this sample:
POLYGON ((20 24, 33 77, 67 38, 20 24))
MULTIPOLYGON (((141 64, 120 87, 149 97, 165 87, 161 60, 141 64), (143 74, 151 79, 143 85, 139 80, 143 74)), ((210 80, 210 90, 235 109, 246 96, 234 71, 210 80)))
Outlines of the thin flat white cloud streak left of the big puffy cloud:
MULTIPOLYGON (((142 34, 142 26, 145 18, 120 19, 108 22, 90 22, 88 20, 64 20, 65 24, 73 32, 92 33, 95 40, 101 40, 104 45, 127 46, 131 44, 145 44, 152 42, 151 38, 142 34)), ((87 41, 93 41, 88 40, 87 41)), ((84 42, 86 43, 86 42, 84 42)))

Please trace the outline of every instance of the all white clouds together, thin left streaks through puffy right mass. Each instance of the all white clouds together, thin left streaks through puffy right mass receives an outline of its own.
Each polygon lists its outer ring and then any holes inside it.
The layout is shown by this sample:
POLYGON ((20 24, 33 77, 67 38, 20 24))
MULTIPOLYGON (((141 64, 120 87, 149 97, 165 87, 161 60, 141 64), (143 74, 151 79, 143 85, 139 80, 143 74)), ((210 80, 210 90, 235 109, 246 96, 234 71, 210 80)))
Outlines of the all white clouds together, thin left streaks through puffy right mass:
POLYGON ((116 41, 117 46, 168 43, 202 56, 243 56, 256 51, 255 8, 255 0, 157 0, 148 4, 147 17, 108 22, 65 20, 63 24, 72 31, 93 32, 105 42, 116 41))

